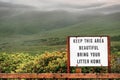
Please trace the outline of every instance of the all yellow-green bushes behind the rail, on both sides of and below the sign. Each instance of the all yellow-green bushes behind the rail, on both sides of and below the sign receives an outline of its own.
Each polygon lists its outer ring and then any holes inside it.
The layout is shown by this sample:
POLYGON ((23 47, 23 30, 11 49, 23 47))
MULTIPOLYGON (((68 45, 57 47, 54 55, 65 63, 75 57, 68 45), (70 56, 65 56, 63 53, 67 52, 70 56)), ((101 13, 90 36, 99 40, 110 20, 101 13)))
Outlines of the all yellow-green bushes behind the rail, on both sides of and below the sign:
MULTIPOLYGON (((30 55, 28 53, 0 53, 0 73, 66 73, 67 54, 65 51, 44 52, 30 55)), ((111 55, 111 71, 120 73, 118 58, 120 52, 111 55)), ((71 68, 75 73, 75 68, 71 68)), ((82 67, 82 73, 103 73, 107 67, 82 67)))

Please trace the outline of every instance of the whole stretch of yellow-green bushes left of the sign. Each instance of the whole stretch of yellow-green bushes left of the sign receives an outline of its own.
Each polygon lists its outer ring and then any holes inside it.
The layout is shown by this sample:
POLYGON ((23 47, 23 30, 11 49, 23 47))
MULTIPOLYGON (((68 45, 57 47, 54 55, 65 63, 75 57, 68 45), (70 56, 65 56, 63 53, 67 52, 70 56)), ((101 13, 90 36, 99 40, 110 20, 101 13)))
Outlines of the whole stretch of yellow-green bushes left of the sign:
POLYGON ((31 56, 24 53, 0 55, 1 73, 45 73, 66 72, 65 52, 45 52, 31 56))

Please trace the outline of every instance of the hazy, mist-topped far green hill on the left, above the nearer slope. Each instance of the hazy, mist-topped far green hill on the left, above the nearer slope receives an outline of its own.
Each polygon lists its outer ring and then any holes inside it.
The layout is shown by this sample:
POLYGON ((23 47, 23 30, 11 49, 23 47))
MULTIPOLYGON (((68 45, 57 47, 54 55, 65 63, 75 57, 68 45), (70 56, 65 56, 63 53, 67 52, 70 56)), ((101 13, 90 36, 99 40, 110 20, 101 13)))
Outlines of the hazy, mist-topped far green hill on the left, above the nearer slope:
POLYGON ((76 17, 63 11, 28 11, 20 15, 16 13, 16 16, 1 19, 0 33, 23 35, 40 33, 76 24, 78 23, 76 17))

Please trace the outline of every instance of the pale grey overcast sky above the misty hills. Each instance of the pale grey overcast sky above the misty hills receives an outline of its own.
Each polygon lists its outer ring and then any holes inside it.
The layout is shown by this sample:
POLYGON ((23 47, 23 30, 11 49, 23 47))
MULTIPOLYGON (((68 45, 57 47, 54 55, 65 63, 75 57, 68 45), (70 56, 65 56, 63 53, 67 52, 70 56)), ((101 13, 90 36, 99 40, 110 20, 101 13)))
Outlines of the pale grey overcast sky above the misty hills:
POLYGON ((0 0, 36 7, 39 10, 90 10, 120 4, 120 0, 0 0))

